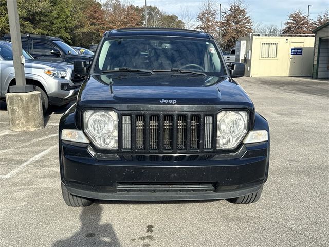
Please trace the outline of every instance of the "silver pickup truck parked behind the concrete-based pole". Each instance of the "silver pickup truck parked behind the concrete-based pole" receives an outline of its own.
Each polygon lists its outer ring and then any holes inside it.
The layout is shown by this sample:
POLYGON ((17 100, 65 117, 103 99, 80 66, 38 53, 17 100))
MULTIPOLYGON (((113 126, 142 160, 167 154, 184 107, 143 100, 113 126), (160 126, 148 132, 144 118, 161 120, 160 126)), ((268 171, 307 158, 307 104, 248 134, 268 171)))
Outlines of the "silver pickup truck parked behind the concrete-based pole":
MULTIPOLYGON (((64 62, 35 60, 23 50, 26 83, 41 92, 43 111, 49 104, 63 106, 75 101, 84 76, 75 75, 73 66, 64 62)), ((11 43, 0 41, 0 98, 5 100, 9 87, 15 85, 11 43)))

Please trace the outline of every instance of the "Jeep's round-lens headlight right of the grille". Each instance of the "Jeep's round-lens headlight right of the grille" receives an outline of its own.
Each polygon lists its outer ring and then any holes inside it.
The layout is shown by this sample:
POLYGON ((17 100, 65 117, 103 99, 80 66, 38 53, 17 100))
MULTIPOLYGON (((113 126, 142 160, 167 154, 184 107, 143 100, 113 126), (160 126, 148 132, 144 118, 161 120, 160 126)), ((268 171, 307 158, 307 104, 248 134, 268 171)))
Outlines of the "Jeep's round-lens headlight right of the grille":
POLYGON ((223 111, 217 115, 217 149, 234 149, 247 133, 246 111, 223 111))

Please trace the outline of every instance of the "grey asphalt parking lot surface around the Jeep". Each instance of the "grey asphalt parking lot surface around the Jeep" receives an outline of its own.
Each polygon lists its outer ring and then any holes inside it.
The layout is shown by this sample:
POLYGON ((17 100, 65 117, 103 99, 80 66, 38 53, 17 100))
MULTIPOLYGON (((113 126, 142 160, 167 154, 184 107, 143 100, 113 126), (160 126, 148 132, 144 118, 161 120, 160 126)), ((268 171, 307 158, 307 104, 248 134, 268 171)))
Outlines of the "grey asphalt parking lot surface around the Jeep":
POLYGON ((329 83, 238 78, 269 121, 269 178, 255 204, 62 200, 58 122, 9 130, 0 110, 1 246, 329 246, 329 83))

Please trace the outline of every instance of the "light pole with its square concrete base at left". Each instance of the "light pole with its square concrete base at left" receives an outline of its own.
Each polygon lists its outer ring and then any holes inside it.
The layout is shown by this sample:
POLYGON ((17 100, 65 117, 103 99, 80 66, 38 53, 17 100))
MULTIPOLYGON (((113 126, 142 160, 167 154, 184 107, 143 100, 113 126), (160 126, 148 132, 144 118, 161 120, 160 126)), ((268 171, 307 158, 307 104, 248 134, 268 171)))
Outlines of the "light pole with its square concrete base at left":
POLYGON ((10 129, 32 131, 44 128, 40 92, 33 91, 33 85, 26 85, 22 52, 21 31, 17 0, 7 0, 10 38, 12 42, 15 86, 6 94, 10 129))

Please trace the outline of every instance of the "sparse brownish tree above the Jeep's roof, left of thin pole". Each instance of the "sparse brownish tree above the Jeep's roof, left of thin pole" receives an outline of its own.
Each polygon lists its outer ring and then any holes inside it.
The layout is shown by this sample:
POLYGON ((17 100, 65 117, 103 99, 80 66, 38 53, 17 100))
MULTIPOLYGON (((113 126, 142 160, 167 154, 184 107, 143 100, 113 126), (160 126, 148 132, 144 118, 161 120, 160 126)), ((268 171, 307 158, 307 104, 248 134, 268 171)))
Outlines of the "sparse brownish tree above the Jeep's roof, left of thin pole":
POLYGON ((200 24, 196 29, 210 33, 212 36, 218 39, 218 29, 220 26, 220 21, 218 21, 218 10, 217 2, 214 0, 205 0, 200 6, 200 13, 198 14, 196 20, 200 24))

